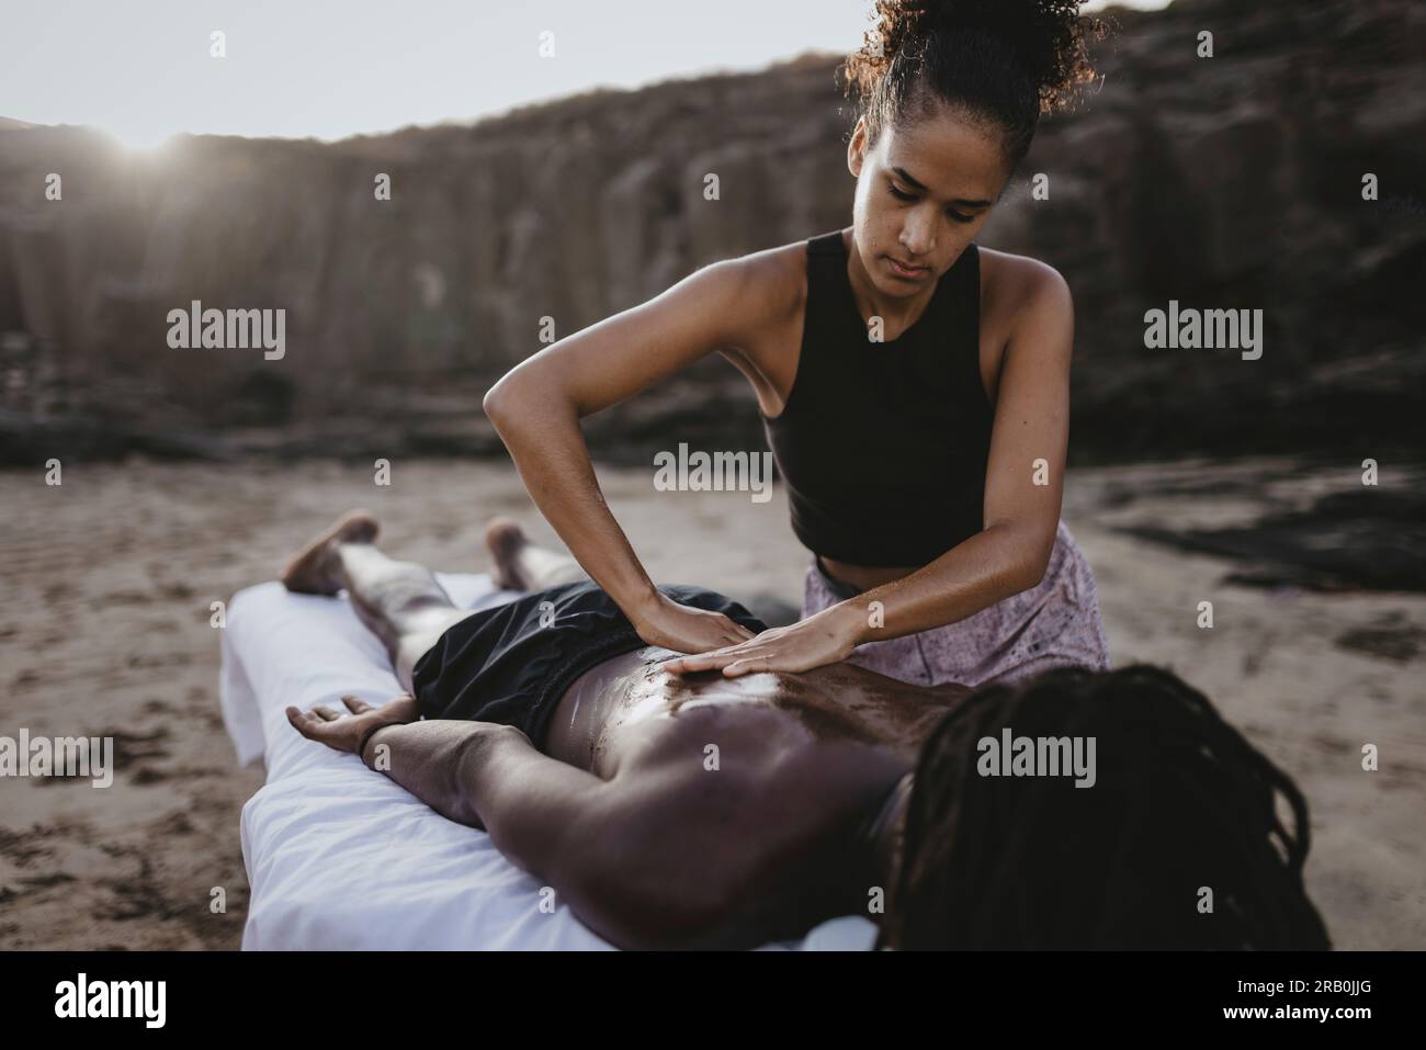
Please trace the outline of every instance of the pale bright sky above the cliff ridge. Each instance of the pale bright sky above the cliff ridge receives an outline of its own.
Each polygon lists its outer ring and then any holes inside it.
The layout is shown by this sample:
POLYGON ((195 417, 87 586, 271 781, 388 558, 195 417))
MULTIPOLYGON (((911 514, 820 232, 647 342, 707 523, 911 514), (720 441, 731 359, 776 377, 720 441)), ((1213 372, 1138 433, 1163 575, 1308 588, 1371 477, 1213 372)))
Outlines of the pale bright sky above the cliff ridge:
POLYGON ((873 0, 0 0, 0 117, 90 124, 138 147, 177 131, 334 140, 469 121, 595 87, 752 71, 810 50, 844 54, 860 46, 873 9, 873 0), (224 34, 221 58, 211 54, 214 31, 224 34))

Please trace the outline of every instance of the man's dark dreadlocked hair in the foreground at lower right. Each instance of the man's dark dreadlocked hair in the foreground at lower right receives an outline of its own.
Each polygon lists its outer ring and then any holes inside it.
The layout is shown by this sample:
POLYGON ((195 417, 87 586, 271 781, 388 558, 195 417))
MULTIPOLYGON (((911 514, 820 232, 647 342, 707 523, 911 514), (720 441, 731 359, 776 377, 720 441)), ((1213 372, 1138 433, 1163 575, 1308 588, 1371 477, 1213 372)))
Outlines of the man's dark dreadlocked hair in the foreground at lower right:
POLYGON ((1176 675, 1047 671, 978 689, 927 738, 877 946, 1326 949, 1308 845, 1298 788, 1176 675), (988 775, 980 742, 1002 729, 1095 738, 1092 786, 988 775))

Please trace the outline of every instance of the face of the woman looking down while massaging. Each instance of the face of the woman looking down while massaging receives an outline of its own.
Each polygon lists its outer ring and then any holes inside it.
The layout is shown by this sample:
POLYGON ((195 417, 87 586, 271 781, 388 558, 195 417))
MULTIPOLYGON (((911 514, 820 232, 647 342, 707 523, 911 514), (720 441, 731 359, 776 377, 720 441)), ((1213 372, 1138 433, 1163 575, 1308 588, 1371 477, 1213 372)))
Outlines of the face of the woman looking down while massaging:
POLYGON ((858 121, 847 146, 857 177, 853 228, 877 290, 921 294, 950 270, 1000 197, 1010 168, 1001 134, 950 110, 908 128, 886 127, 866 150, 858 121), (911 274, 893 265, 921 267, 911 274))

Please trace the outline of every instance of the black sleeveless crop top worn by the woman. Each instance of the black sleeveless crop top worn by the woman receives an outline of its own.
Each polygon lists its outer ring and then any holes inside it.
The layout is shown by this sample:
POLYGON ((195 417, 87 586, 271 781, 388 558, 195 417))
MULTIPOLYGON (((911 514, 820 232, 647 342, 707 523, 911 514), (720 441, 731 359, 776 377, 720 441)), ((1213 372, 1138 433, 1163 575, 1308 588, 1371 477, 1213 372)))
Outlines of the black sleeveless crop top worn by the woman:
POLYGON ((941 275, 900 338, 873 342, 834 230, 807 241, 787 404, 763 429, 793 532, 824 558, 925 565, 980 532, 994 411, 980 374, 980 251, 941 275))

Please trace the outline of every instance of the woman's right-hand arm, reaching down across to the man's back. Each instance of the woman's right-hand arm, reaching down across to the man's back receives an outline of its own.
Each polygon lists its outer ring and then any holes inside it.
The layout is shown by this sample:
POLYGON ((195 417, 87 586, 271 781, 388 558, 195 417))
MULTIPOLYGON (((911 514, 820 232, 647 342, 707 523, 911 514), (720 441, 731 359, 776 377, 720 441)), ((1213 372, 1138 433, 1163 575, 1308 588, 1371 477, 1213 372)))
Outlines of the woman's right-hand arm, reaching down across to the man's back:
POLYGON ((984 529, 915 572, 799 623, 660 666, 673 672, 722 668, 727 676, 809 671, 846 659, 863 642, 955 623, 1044 579, 1064 495, 1074 301, 1055 270, 1041 262, 1031 267, 1001 364, 984 529), (1037 459, 1045 461, 1044 485, 1035 484, 1037 459))

